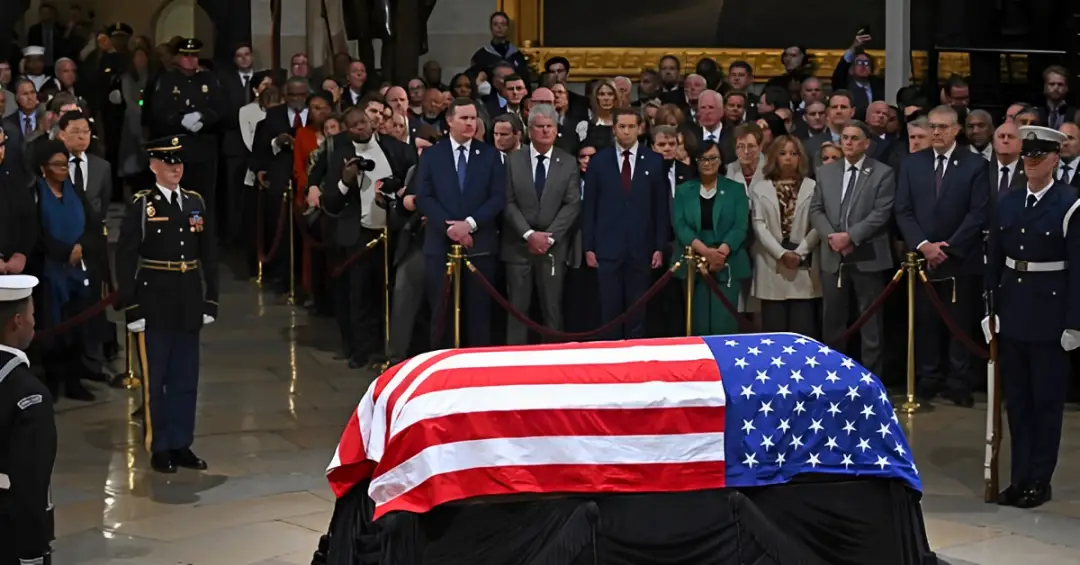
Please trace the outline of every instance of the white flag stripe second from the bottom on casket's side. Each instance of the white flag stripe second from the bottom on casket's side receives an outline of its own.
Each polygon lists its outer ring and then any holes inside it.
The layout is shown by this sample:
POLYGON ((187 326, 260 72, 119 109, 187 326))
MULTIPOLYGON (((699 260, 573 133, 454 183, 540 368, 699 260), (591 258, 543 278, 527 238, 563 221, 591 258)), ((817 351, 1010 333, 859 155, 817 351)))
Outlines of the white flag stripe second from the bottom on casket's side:
MULTIPOLYGON (((586 408, 689 408, 724 406, 720 381, 619 385, 513 385, 428 392, 404 404, 390 426, 393 438, 428 418, 476 412, 586 408)), ((401 402, 399 401, 399 405, 401 402)), ((528 418, 527 414, 522 415, 528 418)))

